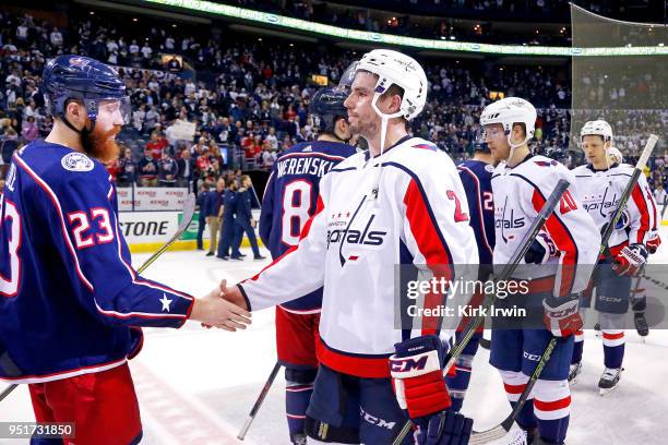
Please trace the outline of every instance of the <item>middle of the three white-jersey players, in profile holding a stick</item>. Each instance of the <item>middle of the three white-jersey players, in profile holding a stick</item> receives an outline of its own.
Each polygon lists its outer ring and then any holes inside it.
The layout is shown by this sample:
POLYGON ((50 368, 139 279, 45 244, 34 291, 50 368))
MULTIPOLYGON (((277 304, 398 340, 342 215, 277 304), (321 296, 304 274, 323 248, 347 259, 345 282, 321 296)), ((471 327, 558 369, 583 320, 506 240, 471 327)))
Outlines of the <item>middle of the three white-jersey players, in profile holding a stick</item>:
MULTIPOLYGON (((508 263, 557 182, 562 178, 574 181, 561 164, 530 153, 527 143, 535 122, 534 106, 516 97, 490 104, 480 116, 486 142, 501 161, 491 180, 494 269, 508 263)), ((539 266, 521 266, 513 276, 528 282, 528 293, 509 297, 514 300, 509 303, 522 304, 529 314, 542 318, 545 328, 496 328, 498 321, 492 320, 490 363, 500 371, 511 405, 520 398, 548 342, 554 336, 559 338, 534 386, 534 397, 517 417, 529 443, 534 436, 534 443, 541 444, 562 444, 565 440, 571 405, 569 361, 573 334, 582 327, 580 292, 589 279, 600 243, 594 221, 572 189, 566 190, 524 257, 527 264, 539 266)))

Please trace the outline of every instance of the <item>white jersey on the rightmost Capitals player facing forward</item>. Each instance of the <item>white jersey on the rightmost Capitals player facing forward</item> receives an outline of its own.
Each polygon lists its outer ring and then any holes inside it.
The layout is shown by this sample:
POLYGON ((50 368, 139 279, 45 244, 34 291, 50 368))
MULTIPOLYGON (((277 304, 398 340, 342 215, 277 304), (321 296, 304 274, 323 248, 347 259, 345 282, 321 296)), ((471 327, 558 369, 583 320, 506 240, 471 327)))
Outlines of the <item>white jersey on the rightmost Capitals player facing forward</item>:
MULTIPOLYGON (((583 206, 599 230, 603 229, 619 205, 619 200, 633 175, 633 167, 615 164, 608 170, 596 170, 587 164, 574 168, 573 175, 583 206)), ((629 243, 645 244, 651 231, 656 229, 656 202, 644 175, 640 176, 629 196, 627 211, 628 228, 616 229, 610 236, 608 245, 613 254, 629 243)))

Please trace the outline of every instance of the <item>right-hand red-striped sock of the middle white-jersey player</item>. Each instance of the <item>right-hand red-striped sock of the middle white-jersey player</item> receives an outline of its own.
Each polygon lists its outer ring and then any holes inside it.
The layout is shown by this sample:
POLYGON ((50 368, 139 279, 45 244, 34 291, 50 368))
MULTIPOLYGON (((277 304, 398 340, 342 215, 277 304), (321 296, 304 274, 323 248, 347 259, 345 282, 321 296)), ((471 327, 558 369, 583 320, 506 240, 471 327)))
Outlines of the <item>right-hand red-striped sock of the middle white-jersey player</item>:
POLYGON ((563 443, 569 429, 571 390, 568 381, 538 380, 535 386, 535 413, 540 437, 563 443))

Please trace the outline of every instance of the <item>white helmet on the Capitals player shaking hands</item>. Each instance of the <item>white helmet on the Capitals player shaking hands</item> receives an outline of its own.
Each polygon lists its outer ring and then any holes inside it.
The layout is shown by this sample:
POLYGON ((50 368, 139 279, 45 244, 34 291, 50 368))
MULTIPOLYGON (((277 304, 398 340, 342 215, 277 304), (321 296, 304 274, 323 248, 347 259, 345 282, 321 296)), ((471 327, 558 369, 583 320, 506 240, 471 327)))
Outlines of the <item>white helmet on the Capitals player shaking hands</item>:
MULTIPOLYGON (((427 101, 427 75, 411 57, 390 49, 374 49, 362 56, 356 72, 378 75, 374 93, 383 94, 394 84, 404 89, 398 116, 411 120, 422 111, 427 101)), ((377 111, 378 112, 378 111, 377 111)))

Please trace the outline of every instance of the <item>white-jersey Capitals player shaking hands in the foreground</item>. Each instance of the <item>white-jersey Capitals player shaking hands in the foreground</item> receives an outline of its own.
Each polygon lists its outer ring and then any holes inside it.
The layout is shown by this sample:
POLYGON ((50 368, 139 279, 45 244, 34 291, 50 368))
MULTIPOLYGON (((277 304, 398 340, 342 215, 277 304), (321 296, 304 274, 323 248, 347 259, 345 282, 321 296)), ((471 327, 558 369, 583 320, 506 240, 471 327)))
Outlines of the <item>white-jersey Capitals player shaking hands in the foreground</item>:
POLYGON ((449 410, 440 321, 395 326, 397 265, 456 279, 456 265, 478 262, 462 181, 445 153, 406 132, 428 89, 416 60, 373 50, 354 79, 345 106, 369 151, 320 181, 299 244, 225 298, 255 311, 323 287, 309 443, 387 444, 408 416, 420 444, 465 444, 472 421, 449 410))

